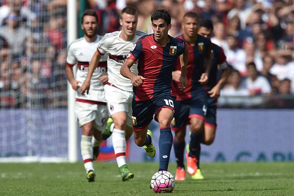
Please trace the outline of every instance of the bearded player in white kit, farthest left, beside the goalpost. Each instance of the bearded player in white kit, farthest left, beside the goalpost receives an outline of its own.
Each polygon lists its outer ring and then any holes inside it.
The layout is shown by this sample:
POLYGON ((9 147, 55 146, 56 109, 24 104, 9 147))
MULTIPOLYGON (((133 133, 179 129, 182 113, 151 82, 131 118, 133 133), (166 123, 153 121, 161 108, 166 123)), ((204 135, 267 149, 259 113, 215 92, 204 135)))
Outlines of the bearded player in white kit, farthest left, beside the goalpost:
POLYGON ((93 160, 98 156, 101 131, 104 131, 108 118, 104 97, 104 84, 108 81, 107 55, 102 56, 100 62, 96 64, 91 79, 91 91, 87 95, 82 95, 78 90, 87 77, 89 62, 97 50, 98 42, 102 39, 102 36, 97 35, 97 28, 98 16, 96 12, 86 10, 82 16, 82 29, 85 37, 77 39, 69 45, 65 68, 68 81, 77 91, 75 113, 82 129, 81 152, 89 182, 95 180, 93 160), (76 79, 73 73, 75 64, 78 66, 76 79))

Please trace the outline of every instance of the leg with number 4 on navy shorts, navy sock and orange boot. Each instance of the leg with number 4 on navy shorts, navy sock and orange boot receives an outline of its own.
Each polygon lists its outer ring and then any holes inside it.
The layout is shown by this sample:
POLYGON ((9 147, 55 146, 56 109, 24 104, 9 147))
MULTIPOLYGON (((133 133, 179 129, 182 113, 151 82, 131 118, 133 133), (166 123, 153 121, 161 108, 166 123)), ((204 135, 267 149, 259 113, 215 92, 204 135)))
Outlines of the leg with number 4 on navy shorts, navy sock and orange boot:
POLYGON ((203 123, 206 115, 206 106, 200 101, 193 100, 190 109, 190 130, 191 139, 189 144, 189 153, 186 154, 187 171, 190 175, 194 175, 198 169, 197 163, 200 159, 200 143, 202 141, 203 123))

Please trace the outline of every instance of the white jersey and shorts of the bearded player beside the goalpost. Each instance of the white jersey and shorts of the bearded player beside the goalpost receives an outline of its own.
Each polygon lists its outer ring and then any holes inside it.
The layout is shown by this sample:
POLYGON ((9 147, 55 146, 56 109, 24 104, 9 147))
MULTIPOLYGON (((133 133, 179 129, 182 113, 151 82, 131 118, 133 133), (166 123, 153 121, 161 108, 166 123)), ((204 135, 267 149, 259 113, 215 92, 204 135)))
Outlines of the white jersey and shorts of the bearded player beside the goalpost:
MULTIPOLYGON (((89 43, 83 37, 73 41, 68 47, 66 58, 67 66, 78 65, 76 80, 81 83, 86 80, 89 62, 101 39, 102 36, 97 36, 95 42, 89 43)), ((77 90, 75 112, 79 126, 95 120, 94 127, 96 129, 99 131, 105 129, 108 111, 104 97, 104 85, 99 80, 103 75, 107 75, 107 55, 101 57, 98 66, 94 70, 89 94, 82 95, 80 93, 80 88, 77 90)))

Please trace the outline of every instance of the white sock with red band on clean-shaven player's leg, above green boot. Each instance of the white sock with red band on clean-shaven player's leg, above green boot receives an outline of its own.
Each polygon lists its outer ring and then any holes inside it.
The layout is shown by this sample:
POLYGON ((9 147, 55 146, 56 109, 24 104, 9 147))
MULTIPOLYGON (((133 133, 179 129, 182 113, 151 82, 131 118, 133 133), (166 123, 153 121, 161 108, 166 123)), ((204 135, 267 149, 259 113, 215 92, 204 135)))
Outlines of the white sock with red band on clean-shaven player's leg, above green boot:
POLYGON ((112 133, 112 146, 116 156, 118 167, 126 164, 126 137, 125 131, 113 129, 112 133))

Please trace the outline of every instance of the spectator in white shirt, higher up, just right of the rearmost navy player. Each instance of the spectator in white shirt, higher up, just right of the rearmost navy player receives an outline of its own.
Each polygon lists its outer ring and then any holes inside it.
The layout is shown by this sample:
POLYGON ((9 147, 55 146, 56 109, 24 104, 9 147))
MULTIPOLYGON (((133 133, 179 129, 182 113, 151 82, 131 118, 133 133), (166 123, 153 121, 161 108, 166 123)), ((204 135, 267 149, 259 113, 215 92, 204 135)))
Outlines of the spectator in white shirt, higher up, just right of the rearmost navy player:
POLYGON ((233 66, 234 69, 237 69, 242 76, 246 75, 246 53, 244 49, 238 47, 237 38, 234 35, 227 36, 227 42, 229 49, 225 50, 227 56, 227 61, 233 66))

